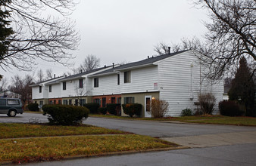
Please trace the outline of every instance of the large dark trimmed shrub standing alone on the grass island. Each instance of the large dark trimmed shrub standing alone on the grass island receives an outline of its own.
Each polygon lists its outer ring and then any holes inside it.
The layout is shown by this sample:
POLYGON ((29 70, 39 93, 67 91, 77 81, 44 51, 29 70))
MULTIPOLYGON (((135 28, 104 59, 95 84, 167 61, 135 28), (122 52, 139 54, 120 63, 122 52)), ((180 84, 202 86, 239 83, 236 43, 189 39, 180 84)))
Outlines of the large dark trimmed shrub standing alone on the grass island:
POLYGON ((89 115, 89 109, 83 106, 44 105, 42 110, 43 115, 48 115, 50 124, 80 124, 83 118, 88 118, 89 115))

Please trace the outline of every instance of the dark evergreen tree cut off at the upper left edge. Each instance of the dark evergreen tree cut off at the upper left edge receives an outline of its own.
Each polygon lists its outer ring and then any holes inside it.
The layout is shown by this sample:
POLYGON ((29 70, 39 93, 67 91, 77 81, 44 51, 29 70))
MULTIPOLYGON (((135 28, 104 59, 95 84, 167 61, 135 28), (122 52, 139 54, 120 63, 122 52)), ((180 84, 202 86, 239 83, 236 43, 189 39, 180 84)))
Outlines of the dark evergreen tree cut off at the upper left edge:
POLYGON ((11 27, 7 27, 10 25, 10 21, 7 18, 10 16, 9 11, 2 11, 2 7, 6 4, 11 3, 11 0, 2 0, 0 2, 0 58, 2 61, 2 57, 7 54, 8 47, 11 44, 6 38, 13 34, 13 30, 11 27))

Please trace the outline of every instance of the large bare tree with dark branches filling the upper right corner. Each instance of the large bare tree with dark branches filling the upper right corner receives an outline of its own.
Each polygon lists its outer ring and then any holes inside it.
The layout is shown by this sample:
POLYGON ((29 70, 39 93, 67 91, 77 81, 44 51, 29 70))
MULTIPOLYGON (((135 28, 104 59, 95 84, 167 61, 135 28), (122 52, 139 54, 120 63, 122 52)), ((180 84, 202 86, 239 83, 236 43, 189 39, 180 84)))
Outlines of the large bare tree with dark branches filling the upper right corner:
POLYGON ((237 68, 242 57, 254 63, 255 72, 256 1, 197 0, 195 4, 208 9, 212 20, 204 23, 208 28, 206 42, 212 50, 205 54, 214 66, 211 77, 221 78, 233 66, 237 68))

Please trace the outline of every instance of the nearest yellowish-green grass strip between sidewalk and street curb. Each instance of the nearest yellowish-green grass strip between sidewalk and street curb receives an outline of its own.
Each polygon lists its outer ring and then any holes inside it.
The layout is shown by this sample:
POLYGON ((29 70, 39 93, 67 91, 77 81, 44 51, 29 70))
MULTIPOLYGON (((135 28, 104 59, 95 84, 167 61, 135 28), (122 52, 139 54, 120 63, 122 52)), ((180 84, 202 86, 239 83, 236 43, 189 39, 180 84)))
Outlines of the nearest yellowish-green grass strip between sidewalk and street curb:
POLYGON ((91 156, 176 146, 164 140, 135 134, 11 139, 0 140, 0 161, 52 161, 65 156, 91 156))

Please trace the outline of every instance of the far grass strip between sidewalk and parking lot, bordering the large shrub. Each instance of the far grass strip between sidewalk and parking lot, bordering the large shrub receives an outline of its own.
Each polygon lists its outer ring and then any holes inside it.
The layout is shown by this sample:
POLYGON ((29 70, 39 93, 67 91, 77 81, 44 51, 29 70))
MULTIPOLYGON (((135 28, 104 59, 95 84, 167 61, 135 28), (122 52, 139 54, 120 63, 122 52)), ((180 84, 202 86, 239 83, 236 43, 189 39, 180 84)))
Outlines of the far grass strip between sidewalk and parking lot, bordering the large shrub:
POLYGON ((0 139, 18 137, 49 137, 89 134, 125 134, 123 131, 99 128, 83 124, 81 126, 55 126, 48 124, 0 124, 0 139))

